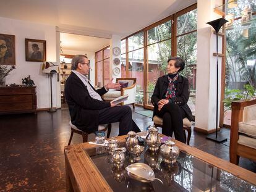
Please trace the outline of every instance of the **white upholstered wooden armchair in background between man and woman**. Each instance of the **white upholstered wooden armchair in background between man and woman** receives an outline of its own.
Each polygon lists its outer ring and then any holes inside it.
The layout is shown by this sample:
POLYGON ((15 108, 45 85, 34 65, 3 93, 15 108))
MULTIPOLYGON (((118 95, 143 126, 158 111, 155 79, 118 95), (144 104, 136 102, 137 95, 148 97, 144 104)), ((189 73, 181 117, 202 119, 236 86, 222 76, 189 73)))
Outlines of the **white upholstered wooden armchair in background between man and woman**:
POLYGON ((121 83, 121 90, 109 90, 108 93, 103 95, 103 99, 106 101, 112 101, 113 99, 118 98, 128 94, 129 97, 127 101, 121 103, 121 105, 132 104, 134 107, 135 104, 135 95, 136 95, 136 78, 116 78, 116 83, 121 83))

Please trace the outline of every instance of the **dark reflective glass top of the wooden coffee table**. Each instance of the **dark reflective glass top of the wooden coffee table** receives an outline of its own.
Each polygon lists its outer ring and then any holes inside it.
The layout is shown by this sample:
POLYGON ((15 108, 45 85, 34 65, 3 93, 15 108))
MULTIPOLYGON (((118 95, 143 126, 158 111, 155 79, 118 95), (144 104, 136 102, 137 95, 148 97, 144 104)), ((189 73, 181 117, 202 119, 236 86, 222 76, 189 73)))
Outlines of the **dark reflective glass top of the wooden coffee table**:
MULTIPOLYGON (((124 146, 124 144, 121 144, 124 146)), ((137 162, 126 152, 123 167, 114 167, 111 156, 105 148, 84 149, 105 178, 113 191, 255 191, 256 186, 237 178, 224 170, 197 159, 181 151, 177 162, 166 164, 159 151, 150 152, 147 148, 140 154, 139 162, 150 165, 158 182, 142 183, 127 175, 125 167, 137 162)))

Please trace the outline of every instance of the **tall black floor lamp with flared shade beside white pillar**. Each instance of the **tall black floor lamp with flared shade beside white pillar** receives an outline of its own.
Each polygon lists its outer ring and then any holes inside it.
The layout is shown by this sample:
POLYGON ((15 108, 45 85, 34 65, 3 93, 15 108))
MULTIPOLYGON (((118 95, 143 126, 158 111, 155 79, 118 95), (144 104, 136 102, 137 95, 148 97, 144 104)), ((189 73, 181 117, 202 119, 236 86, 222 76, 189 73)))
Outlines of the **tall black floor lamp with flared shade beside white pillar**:
POLYGON ((216 63, 216 133, 207 135, 207 139, 216 141, 221 143, 223 141, 227 141, 227 138, 224 138, 222 135, 218 135, 218 64, 219 64, 219 52, 218 52, 218 33, 220 28, 224 25, 224 23, 228 22, 226 19, 220 18, 208 22, 208 25, 211 25, 215 29, 216 32, 216 54, 217 54, 217 63, 216 63))

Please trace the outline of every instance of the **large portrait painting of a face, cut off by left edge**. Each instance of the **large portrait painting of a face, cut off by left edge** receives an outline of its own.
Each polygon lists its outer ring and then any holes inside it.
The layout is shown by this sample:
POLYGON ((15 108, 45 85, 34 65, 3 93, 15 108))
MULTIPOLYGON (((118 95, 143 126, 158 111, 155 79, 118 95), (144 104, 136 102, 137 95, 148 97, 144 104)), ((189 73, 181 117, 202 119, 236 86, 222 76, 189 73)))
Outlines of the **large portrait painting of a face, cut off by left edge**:
POLYGON ((15 65, 15 36, 0 34, 0 65, 15 65))

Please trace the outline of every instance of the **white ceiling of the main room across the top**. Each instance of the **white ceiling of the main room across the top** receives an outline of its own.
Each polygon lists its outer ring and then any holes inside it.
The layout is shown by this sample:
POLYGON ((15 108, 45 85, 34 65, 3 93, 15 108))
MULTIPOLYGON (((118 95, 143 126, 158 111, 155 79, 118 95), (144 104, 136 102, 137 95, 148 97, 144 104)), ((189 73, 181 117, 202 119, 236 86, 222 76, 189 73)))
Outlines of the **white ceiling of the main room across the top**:
POLYGON ((197 0, 9 0, 2 2, 0 17, 55 25, 59 31, 79 35, 125 37, 195 2, 197 0))

